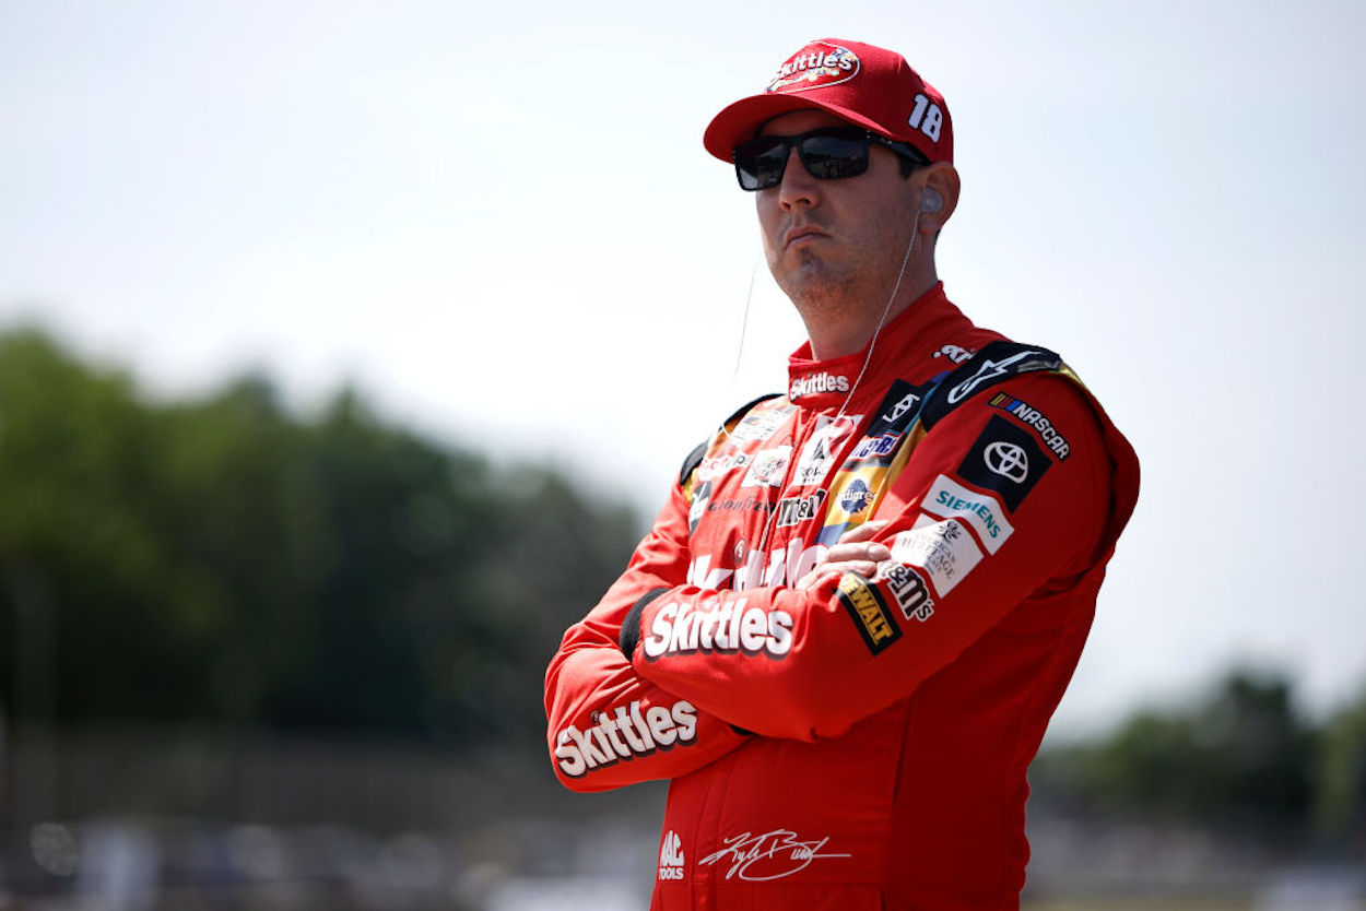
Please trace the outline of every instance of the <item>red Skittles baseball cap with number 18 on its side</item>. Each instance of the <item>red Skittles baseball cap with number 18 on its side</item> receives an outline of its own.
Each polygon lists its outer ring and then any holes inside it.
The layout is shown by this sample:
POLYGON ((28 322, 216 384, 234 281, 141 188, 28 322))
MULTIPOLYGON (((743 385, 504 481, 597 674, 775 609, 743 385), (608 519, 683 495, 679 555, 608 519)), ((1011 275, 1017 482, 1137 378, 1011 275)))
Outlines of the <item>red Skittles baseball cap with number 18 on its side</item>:
POLYGON ((731 161, 736 143, 753 139, 766 120, 805 108, 829 111, 910 143, 930 161, 953 161, 953 124, 944 96, 902 55, 839 38, 811 41, 788 57, 762 94, 740 98, 712 119, 702 145, 731 161))

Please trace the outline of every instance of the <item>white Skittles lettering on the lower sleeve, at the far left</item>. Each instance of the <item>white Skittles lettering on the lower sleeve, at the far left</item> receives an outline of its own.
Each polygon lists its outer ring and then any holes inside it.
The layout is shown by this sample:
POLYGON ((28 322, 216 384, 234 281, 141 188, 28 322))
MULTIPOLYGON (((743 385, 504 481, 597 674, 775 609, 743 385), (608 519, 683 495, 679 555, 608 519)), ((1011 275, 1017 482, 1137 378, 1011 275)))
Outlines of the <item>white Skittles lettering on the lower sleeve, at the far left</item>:
POLYGON ((656 750, 688 746, 697 738, 697 709, 684 699, 645 707, 634 699, 590 717, 593 724, 587 729, 571 724, 555 739, 556 765, 571 779, 656 750))

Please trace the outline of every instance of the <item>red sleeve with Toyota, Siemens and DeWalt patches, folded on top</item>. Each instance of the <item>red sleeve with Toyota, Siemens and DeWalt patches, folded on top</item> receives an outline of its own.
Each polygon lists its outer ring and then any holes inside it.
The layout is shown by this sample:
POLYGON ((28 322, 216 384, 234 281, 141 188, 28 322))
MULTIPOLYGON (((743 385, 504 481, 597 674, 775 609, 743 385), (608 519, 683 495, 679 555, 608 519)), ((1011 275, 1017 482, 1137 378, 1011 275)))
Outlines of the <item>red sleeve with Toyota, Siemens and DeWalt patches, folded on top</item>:
POLYGON ((641 615, 637 672, 759 735, 841 735, 1031 593, 1065 591, 1108 559, 1132 507, 1112 496, 1115 475, 1131 471, 1137 485, 1137 460, 1127 444, 1117 455, 1106 445, 1102 421, 1059 377, 1022 376, 975 396, 919 441, 880 503, 876 518, 891 524, 877 539, 893 559, 874 579, 671 589, 641 615), (1045 421, 1004 411, 1000 396, 1045 421))

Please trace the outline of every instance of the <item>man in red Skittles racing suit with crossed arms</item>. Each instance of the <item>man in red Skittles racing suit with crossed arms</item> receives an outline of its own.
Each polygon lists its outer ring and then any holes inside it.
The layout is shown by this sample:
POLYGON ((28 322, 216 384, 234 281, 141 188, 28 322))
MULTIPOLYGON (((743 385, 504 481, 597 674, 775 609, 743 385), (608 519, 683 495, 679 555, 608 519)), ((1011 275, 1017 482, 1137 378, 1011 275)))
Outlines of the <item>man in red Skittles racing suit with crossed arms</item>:
POLYGON ((945 298, 952 124, 899 55, 814 41, 703 142, 809 343, 566 634, 556 773, 671 780, 652 908, 1015 908, 1138 462, 1057 355, 945 298))

